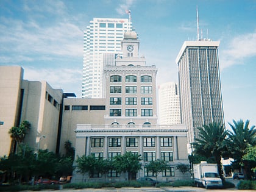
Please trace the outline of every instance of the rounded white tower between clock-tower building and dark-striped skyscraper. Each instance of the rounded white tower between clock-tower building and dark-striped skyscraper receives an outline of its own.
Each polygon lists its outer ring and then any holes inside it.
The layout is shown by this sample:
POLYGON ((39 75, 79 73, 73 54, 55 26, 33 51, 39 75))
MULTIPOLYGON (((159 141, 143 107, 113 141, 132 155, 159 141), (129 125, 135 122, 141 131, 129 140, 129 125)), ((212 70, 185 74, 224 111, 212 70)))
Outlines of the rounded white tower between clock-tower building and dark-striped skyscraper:
POLYGON ((179 90, 174 82, 158 87, 159 124, 180 124, 179 90))

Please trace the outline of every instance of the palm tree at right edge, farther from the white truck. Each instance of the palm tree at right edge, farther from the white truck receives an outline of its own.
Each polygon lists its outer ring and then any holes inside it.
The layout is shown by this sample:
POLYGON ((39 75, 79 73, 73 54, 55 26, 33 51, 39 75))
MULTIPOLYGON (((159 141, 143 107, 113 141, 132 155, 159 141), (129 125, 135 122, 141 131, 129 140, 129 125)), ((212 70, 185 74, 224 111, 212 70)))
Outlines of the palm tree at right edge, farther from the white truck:
MULTIPOLYGON (((232 131, 229 131, 229 151, 232 154, 232 157, 235 159, 235 162, 238 165, 244 165, 245 171, 246 164, 243 162, 243 155, 246 154, 246 149, 255 146, 256 144, 256 129, 255 126, 252 126, 249 129, 249 120, 244 121, 240 119, 239 121, 233 120, 233 124, 229 123, 232 131)), ((249 172, 248 172, 249 173, 249 172)), ((247 173, 245 172, 247 177, 247 173)))

